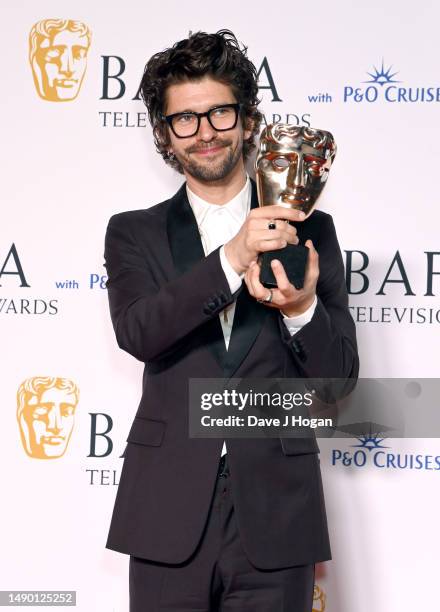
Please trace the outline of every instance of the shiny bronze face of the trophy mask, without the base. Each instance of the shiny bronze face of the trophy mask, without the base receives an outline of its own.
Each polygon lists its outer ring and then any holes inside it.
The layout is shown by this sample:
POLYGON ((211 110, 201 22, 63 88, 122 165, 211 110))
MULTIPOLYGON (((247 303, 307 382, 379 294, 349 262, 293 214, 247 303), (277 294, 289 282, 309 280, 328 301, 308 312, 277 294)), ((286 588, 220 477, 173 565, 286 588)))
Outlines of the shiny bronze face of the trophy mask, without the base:
POLYGON ((330 153, 329 146, 317 147, 304 128, 282 142, 265 140, 263 133, 256 159, 260 206, 278 204, 309 214, 327 181, 330 153))

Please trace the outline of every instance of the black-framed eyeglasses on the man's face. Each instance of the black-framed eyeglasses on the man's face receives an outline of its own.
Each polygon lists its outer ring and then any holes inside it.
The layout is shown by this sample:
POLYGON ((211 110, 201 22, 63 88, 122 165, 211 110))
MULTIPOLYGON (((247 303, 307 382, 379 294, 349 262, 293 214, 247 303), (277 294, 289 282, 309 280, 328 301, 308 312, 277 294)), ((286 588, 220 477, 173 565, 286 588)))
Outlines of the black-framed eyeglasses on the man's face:
POLYGON ((195 136, 199 131, 200 121, 202 117, 206 117, 209 125, 217 132, 226 132, 233 130, 237 125, 238 113, 241 104, 222 104, 214 106, 206 113, 195 113, 192 111, 184 113, 174 113, 173 115, 165 115, 164 119, 173 130, 173 134, 177 138, 190 138, 195 136))

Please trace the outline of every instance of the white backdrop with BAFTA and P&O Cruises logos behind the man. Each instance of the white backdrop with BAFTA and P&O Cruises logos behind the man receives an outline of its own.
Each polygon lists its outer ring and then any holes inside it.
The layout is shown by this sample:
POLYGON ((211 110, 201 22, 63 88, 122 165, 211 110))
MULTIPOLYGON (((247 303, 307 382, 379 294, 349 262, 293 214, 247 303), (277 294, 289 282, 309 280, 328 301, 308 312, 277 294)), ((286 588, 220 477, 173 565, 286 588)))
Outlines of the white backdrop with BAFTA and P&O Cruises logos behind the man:
MULTIPOLYGON (((230 28, 260 69, 266 122, 334 133, 320 207, 345 251, 361 374, 437 377, 440 8, 40 0, 2 13, 0 590, 72 589, 81 611, 124 612, 128 559, 104 545, 142 366, 113 337, 103 239, 113 213, 182 180, 135 99, 146 60, 230 28), (61 406, 52 450, 44 417, 25 417, 37 398, 61 406)), ((438 440, 355 445, 321 441, 334 559, 314 610, 438 610, 438 440)))

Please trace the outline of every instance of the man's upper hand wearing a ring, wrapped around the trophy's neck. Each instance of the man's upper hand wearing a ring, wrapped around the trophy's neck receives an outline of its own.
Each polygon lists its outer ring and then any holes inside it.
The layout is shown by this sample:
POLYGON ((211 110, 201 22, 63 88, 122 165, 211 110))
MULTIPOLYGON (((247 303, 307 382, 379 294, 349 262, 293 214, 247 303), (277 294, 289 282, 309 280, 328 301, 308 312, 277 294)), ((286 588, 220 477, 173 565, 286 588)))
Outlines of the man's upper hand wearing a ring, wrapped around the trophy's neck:
POLYGON ((298 244, 296 228, 287 221, 302 221, 305 214, 282 206, 260 206, 251 210, 238 234, 225 244, 225 255, 237 272, 243 274, 259 253, 284 248, 287 243, 298 244), (276 221, 275 221, 276 220, 276 221), (275 229, 269 229, 273 221, 275 229))

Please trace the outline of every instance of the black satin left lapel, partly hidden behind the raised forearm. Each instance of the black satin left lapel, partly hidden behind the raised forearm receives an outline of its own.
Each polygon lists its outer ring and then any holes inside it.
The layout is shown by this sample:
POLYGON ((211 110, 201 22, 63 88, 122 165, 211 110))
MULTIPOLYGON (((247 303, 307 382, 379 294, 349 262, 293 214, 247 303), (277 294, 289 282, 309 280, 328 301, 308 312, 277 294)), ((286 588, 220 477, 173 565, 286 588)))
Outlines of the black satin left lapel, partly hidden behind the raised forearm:
MULTIPOLYGON (((205 257, 197 221, 188 202, 186 183, 171 200, 167 215, 167 233, 174 267, 179 275, 190 270, 205 257)), ((226 346, 218 317, 205 323, 203 334, 207 347, 223 368, 226 346)))

